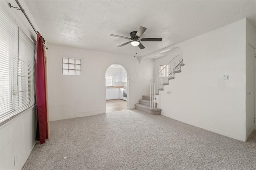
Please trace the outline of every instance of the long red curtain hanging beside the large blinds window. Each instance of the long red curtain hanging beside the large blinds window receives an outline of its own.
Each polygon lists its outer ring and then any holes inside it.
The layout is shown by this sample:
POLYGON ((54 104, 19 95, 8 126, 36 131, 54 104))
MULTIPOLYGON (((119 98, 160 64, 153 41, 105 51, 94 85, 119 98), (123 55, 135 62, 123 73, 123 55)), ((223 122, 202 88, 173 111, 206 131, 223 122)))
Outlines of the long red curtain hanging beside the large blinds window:
POLYGON ((38 32, 36 43, 36 105, 38 113, 36 140, 40 141, 40 145, 49 138, 46 72, 44 39, 38 32))

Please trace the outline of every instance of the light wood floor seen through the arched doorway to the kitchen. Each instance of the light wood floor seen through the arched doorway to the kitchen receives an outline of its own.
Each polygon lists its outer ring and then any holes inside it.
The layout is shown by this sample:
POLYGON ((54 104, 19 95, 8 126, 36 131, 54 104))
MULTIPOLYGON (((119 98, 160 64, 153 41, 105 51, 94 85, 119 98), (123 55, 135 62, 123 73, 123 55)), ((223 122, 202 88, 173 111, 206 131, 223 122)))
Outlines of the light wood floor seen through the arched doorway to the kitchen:
POLYGON ((127 101, 116 99, 116 100, 106 100, 106 112, 120 111, 127 109, 127 101))

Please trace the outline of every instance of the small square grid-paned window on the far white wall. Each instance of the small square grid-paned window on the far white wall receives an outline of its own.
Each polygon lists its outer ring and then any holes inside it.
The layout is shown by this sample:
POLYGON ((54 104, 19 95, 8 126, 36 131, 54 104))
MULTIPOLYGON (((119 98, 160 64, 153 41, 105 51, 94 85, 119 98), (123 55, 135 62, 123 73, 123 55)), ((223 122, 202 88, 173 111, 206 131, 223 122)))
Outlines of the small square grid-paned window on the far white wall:
POLYGON ((81 59, 62 57, 63 75, 81 75, 81 59))

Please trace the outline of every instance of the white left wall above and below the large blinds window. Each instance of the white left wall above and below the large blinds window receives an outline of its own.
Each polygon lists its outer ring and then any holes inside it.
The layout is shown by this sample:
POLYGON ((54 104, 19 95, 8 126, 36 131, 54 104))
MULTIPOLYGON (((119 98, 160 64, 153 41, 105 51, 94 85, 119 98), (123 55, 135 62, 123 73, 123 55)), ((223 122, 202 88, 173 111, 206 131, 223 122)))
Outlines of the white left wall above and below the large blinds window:
MULTIPOLYGON (((10 9, 8 3, 12 6, 18 6, 14 0, 1 0, 0 5, 8 14, 16 20, 21 29, 32 39, 36 40, 36 33, 30 26, 28 20, 20 10, 10 9)), ((27 6, 23 0, 19 0, 27 16, 30 18, 36 30, 40 31, 34 22, 27 6)), ((36 111, 27 109, 14 119, 8 121, 0 127, 0 169, 21 169, 30 152, 36 143, 36 111), (18 155, 16 165, 14 166, 14 154, 18 155)))

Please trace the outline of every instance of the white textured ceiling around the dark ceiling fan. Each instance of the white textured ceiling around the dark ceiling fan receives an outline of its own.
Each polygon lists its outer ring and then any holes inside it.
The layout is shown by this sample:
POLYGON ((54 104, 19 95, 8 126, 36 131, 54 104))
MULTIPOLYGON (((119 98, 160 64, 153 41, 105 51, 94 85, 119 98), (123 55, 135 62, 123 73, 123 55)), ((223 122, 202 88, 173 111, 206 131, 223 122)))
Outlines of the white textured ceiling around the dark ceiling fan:
POLYGON ((234 21, 248 18, 256 25, 256 1, 80 1, 25 0, 47 43, 131 55, 136 48, 127 39, 140 26, 141 38, 162 37, 161 42, 142 42, 143 56, 180 43, 234 21))

